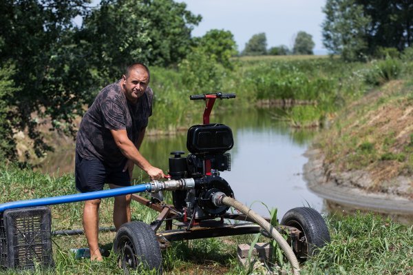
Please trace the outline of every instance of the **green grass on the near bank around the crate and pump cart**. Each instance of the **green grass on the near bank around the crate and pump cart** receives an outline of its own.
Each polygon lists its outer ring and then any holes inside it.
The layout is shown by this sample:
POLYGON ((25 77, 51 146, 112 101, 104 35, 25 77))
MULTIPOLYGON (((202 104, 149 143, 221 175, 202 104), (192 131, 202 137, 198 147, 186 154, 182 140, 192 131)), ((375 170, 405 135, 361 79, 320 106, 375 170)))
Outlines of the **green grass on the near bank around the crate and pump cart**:
MULTIPOLYGON (((13 165, 0 168, 1 201, 74 194, 74 180, 70 175, 47 176, 13 165)), ((101 226, 112 225, 111 199, 103 199, 100 209, 101 226)), ((54 205, 52 228, 81 228, 81 204, 54 205)), ((133 220, 153 221, 157 213, 138 203, 133 203, 133 220)), ((413 229, 373 214, 356 214, 336 218, 326 217, 332 241, 310 261, 301 266, 301 274, 411 274, 413 266, 413 229)), ((254 235, 208 238, 172 243, 162 252, 164 274, 251 274, 238 265, 236 246, 252 243, 254 239, 268 242, 267 238, 254 235)), ((100 234, 100 246, 111 250, 114 233, 100 234)), ((75 259, 70 248, 86 247, 84 236, 54 236, 54 270, 37 269, 36 272, 3 274, 123 274, 118 268, 116 255, 109 254, 103 263, 88 259, 75 259)), ((282 255, 276 250, 275 260, 282 255)), ((285 261, 285 259, 284 259, 285 261)), ((284 268, 288 272, 288 265, 284 268)), ((261 274, 254 270, 254 274, 261 274)), ((131 274, 153 274, 137 270, 131 274)))

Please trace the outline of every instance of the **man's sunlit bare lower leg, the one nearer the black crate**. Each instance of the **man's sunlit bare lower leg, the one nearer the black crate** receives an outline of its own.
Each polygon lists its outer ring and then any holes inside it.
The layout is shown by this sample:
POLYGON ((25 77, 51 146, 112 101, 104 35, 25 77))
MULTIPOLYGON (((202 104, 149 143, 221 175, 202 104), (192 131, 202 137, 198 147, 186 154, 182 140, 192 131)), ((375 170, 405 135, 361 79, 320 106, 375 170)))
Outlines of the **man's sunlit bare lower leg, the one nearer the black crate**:
POLYGON ((98 245, 99 205, 100 199, 98 198, 85 201, 85 206, 83 207, 83 228, 85 229, 85 236, 90 249, 91 261, 103 260, 98 245))

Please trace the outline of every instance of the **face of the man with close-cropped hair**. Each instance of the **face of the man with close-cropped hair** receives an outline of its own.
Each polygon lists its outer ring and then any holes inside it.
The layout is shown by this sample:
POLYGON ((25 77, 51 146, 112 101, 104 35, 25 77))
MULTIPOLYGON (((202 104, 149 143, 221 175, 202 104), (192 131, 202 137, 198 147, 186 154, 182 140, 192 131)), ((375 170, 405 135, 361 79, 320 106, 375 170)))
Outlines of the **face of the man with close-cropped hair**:
POLYGON ((123 75, 123 89, 125 90, 125 96, 131 103, 138 102, 138 99, 149 84, 149 76, 145 70, 138 69, 129 72, 129 77, 123 75))

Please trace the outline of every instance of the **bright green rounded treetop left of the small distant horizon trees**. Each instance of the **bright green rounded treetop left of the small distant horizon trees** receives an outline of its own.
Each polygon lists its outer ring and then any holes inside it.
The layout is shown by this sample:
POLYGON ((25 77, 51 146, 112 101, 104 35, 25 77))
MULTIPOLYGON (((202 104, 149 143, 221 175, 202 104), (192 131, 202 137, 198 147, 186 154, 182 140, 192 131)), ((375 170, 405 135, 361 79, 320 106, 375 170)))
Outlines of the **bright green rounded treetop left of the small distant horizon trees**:
POLYGON ((228 30, 209 30, 203 37, 195 39, 197 48, 225 68, 232 68, 230 58, 237 54, 237 44, 228 30))

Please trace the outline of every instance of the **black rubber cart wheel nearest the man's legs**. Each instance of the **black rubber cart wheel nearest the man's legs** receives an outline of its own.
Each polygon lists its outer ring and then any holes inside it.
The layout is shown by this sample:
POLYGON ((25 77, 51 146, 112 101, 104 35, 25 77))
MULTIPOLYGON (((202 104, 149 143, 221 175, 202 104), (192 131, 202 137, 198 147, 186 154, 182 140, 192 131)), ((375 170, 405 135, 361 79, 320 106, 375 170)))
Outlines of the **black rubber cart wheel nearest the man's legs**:
POLYGON ((155 269, 156 274, 162 274, 158 239, 146 223, 133 221, 123 224, 116 233, 114 251, 119 254, 119 265, 125 274, 136 268, 155 269))

